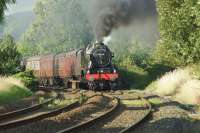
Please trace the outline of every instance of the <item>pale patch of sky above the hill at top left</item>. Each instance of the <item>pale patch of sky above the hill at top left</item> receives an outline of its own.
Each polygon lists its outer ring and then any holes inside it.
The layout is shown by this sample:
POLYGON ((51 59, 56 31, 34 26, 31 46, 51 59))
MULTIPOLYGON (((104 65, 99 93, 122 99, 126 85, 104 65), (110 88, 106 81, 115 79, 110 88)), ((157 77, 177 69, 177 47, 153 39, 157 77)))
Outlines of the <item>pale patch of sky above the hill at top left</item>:
POLYGON ((11 15, 20 12, 33 11, 37 0, 17 0, 15 4, 8 5, 5 15, 11 15))

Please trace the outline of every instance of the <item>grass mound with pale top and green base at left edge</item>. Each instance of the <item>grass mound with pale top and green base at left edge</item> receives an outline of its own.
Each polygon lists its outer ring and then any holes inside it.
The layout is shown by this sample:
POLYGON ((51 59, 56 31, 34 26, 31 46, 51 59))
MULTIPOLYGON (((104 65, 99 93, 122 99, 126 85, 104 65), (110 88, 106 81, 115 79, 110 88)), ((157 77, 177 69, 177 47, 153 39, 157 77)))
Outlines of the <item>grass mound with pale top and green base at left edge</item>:
POLYGON ((20 80, 11 77, 0 78, 0 104, 15 102, 31 95, 20 80))

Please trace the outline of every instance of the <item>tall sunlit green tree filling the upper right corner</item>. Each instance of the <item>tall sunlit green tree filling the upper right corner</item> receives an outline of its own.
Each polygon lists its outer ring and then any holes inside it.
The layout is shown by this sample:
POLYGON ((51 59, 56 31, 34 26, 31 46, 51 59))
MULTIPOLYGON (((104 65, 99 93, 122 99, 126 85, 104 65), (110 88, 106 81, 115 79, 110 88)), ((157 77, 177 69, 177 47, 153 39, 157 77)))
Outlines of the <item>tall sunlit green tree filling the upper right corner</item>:
POLYGON ((158 0, 158 61, 174 66, 200 60, 200 1, 158 0))

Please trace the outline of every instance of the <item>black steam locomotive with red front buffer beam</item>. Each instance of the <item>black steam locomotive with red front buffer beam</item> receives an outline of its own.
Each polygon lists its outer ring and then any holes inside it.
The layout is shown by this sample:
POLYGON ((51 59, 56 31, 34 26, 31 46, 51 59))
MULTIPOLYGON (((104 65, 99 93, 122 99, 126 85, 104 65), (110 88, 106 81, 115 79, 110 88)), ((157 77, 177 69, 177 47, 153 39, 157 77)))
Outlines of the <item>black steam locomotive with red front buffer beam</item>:
POLYGON ((88 86, 92 90, 115 90, 119 74, 112 63, 114 57, 110 49, 102 42, 97 42, 87 50, 89 64, 86 73, 88 86))

